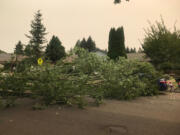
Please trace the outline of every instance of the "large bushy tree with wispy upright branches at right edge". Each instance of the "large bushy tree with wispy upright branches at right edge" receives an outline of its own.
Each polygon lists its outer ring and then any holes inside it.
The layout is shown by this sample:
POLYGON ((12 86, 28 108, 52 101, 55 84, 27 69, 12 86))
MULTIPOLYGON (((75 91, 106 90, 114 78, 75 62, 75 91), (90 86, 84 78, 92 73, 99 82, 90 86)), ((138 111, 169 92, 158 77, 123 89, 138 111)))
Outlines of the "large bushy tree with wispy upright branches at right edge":
POLYGON ((142 47, 157 69, 166 71, 180 68, 180 32, 167 29, 163 19, 145 30, 142 47))

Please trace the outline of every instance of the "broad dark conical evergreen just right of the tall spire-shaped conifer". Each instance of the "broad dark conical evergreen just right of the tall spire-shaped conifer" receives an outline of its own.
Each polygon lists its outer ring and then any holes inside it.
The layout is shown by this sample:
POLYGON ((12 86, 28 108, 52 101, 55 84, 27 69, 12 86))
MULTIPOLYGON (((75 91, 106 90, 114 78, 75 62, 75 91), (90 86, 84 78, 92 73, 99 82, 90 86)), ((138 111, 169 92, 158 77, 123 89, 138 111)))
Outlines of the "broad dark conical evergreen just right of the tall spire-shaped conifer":
POLYGON ((53 36, 49 44, 46 47, 46 57, 53 62, 61 59, 66 55, 65 48, 62 46, 58 37, 53 36))

